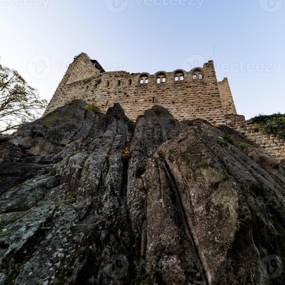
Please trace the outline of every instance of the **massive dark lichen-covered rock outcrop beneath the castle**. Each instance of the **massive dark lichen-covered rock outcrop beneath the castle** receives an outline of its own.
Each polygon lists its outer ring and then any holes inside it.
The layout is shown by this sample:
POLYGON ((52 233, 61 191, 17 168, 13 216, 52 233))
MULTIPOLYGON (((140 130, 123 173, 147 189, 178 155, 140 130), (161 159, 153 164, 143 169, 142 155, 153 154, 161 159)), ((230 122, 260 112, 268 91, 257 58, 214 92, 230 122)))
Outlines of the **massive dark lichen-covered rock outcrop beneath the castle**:
POLYGON ((284 284, 285 172, 228 127, 58 108, 0 142, 0 284, 284 284))

